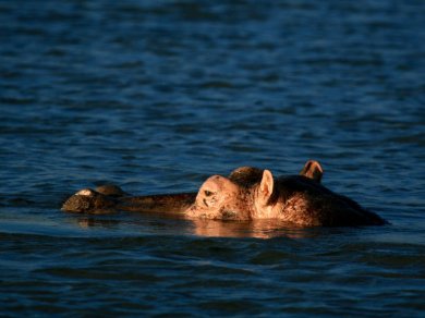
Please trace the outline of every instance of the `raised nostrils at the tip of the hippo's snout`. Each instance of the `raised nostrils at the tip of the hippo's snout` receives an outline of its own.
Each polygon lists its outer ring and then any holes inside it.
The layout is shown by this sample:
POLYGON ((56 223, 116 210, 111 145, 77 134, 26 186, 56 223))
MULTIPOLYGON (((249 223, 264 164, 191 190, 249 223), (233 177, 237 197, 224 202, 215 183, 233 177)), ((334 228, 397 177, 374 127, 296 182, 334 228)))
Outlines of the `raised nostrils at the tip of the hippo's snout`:
POLYGON ((66 199, 62 210, 68 212, 106 212, 114 205, 113 197, 90 188, 84 188, 66 199))

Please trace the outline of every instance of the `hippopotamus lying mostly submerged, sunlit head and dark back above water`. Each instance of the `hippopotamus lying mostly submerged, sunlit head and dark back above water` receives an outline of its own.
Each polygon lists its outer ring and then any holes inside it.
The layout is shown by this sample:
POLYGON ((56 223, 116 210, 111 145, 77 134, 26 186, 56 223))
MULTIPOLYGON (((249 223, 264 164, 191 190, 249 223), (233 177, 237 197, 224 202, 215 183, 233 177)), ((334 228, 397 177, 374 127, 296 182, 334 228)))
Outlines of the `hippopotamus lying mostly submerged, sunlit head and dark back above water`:
POLYGON ((387 223, 353 199, 321 184, 324 170, 308 160, 295 175, 241 167, 212 175, 197 193, 132 196, 117 185, 84 188, 62 206, 69 212, 168 212, 189 219, 252 221, 275 219, 296 227, 357 227, 387 223))

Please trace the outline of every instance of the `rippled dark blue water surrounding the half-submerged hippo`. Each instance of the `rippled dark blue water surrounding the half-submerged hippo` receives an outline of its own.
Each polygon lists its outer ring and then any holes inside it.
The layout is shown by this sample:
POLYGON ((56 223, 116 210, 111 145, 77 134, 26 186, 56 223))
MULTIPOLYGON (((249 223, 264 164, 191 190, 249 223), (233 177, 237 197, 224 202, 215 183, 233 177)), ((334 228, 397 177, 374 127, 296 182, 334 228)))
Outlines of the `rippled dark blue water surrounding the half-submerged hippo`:
POLYGON ((425 2, 1 1, 0 315, 425 313, 425 2), (391 222, 68 215, 239 166, 391 222), (267 238, 267 240, 264 240, 267 238))

